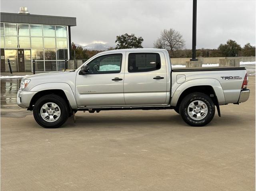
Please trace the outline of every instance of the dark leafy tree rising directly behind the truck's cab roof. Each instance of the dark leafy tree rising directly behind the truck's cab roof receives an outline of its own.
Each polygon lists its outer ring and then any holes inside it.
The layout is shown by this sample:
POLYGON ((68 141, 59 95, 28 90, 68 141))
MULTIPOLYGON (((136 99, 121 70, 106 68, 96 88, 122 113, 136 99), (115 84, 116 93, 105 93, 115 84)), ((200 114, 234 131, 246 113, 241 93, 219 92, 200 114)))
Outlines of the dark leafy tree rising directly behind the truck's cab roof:
POLYGON ((143 38, 136 37, 134 34, 122 34, 116 36, 116 49, 126 49, 126 48, 143 48, 142 47, 143 38))

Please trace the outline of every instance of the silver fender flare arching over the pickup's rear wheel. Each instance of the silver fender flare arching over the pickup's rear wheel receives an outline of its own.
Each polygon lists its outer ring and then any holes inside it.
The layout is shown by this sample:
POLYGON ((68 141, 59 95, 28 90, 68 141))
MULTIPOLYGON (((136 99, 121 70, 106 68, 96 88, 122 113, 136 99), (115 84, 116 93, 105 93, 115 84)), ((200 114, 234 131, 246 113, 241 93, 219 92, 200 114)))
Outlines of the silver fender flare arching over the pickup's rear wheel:
POLYGON ((176 106, 180 95, 188 88, 193 86, 211 86, 218 99, 219 105, 225 104, 225 96, 220 82, 215 78, 199 78, 184 82, 174 92, 170 105, 176 106))

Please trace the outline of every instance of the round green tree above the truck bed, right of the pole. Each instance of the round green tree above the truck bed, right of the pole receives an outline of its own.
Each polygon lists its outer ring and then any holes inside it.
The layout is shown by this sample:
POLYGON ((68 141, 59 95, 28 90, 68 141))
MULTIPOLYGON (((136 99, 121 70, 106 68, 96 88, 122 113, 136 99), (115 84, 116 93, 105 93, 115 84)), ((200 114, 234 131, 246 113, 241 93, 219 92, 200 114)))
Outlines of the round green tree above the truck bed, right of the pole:
POLYGON ((222 56, 238 56, 241 46, 234 40, 228 40, 226 44, 220 44, 218 50, 220 50, 222 56))

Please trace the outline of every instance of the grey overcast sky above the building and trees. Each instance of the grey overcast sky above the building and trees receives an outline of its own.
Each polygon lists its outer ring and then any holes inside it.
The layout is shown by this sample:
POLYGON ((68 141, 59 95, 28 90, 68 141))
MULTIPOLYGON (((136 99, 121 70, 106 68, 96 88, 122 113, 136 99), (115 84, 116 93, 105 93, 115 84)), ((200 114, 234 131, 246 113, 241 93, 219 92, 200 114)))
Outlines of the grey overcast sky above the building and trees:
MULTIPOLYGON (((134 33, 152 48, 164 29, 178 30, 192 46, 192 0, 1 0, 1 12, 18 13, 27 6, 30 14, 76 17, 72 41, 81 45, 105 42, 134 33)), ((255 45, 254 0, 198 0, 197 47, 218 48, 228 39, 255 45)))

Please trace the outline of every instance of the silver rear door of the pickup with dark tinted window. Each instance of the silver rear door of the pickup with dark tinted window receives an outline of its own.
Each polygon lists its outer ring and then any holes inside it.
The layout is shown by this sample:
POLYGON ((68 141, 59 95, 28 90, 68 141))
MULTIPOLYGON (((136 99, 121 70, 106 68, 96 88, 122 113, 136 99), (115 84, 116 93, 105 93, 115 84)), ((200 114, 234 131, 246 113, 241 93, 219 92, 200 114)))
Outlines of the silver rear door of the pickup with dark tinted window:
POLYGON ((164 53, 126 52, 126 105, 166 104, 167 74, 164 53))

